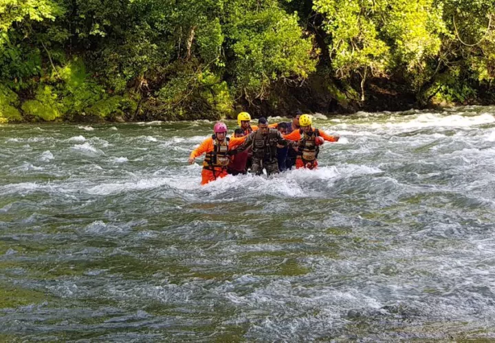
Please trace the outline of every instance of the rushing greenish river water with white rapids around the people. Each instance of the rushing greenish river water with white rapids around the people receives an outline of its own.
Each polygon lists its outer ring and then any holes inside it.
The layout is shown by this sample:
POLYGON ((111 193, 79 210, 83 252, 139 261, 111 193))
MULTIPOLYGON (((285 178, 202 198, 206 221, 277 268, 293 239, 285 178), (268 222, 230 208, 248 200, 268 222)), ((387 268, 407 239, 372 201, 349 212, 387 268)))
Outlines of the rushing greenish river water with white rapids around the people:
POLYGON ((0 126, 0 340, 495 338, 495 108, 315 124, 206 187, 211 122, 0 126))

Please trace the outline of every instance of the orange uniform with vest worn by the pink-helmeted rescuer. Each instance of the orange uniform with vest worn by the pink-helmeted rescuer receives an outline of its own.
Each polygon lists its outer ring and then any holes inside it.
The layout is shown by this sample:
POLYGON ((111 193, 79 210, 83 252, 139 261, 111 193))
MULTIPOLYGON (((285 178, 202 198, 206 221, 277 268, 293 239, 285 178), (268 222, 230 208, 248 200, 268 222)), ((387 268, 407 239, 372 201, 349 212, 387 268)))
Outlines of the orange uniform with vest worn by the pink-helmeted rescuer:
POLYGON ((195 150, 192 150, 190 158, 197 158, 206 153, 201 171, 201 185, 227 176, 227 166, 230 162, 228 152, 234 150, 237 145, 243 143, 246 137, 227 138, 219 141, 215 135, 205 139, 195 150))

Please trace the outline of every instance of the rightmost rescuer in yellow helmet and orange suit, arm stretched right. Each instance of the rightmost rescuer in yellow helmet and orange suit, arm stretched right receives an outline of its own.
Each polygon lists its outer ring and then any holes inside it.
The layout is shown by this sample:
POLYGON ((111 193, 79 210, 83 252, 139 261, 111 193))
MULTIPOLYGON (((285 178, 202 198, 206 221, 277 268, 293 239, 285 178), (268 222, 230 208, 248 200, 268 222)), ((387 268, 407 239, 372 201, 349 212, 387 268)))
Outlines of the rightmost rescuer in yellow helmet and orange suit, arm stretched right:
POLYGON ((287 141, 296 141, 298 155, 296 158, 296 168, 316 169, 318 167, 318 153, 320 145, 325 141, 336 142, 340 137, 330 136, 322 130, 311 128, 311 117, 301 115, 299 118, 300 129, 285 135, 287 141))

